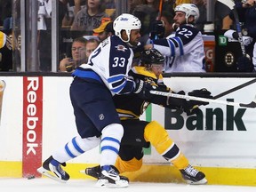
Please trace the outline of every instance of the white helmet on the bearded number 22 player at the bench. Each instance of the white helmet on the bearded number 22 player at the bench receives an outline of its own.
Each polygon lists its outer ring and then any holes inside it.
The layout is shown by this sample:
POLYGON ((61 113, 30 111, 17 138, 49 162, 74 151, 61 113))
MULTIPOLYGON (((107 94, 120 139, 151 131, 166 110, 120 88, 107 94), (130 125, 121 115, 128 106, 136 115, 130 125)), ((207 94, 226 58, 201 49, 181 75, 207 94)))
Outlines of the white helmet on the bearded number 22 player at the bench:
POLYGON ((188 18, 190 16, 194 16, 194 22, 196 22, 196 20, 198 20, 199 18, 199 10, 196 6, 196 4, 180 4, 178 6, 175 7, 174 12, 185 12, 186 16, 186 20, 188 23, 188 18))

